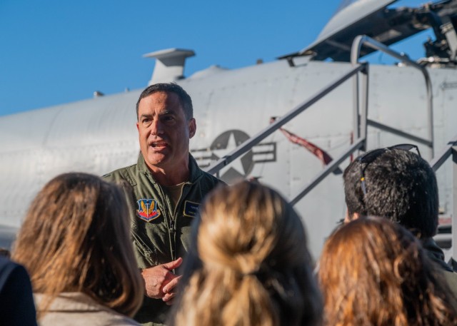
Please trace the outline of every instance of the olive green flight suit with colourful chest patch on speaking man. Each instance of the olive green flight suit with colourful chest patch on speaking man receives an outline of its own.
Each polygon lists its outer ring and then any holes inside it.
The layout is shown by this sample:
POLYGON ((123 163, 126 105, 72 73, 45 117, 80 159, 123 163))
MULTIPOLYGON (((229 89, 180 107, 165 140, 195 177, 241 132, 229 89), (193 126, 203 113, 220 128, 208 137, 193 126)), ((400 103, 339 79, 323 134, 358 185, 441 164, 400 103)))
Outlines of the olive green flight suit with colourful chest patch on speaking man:
MULTIPOLYGON (((205 195, 221 183, 201 170, 189 154, 189 181, 184 183, 172 211, 172 198, 154 180, 141 153, 135 165, 107 173, 103 178, 115 183, 127 181, 131 185, 133 198, 128 195, 131 235, 140 269, 169 263, 188 252, 191 222, 196 210, 205 195)), ((134 318, 143 325, 163 325, 168 312, 169 306, 162 300, 144 297, 134 318)))

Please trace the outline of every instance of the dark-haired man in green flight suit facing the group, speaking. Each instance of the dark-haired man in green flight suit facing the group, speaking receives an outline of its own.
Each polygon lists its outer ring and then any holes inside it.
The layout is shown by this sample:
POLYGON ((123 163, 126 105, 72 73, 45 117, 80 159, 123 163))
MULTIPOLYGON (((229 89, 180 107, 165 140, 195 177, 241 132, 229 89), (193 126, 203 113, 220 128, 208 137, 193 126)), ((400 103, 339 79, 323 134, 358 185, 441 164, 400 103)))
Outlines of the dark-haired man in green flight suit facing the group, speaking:
POLYGON ((136 103, 141 153, 135 165, 104 178, 123 183, 131 205, 131 233, 146 297, 135 319, 163 325, 180 277, 174 273, 187 252, 191 222, 204 196, 219 181, 189 153, 196 133, 192 101, 174 83, 146 88, 136 103))

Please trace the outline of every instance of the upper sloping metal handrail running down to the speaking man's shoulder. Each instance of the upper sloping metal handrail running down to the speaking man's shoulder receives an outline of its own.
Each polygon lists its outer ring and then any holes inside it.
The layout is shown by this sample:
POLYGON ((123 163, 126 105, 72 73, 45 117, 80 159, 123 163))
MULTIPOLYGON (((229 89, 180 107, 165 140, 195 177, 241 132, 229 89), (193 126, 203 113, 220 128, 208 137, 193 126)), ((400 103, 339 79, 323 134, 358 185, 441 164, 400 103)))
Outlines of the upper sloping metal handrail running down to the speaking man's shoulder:
POLYGON ((251 148, 253 148, 253 146, 256 146, 264 138, 270 136, 271 133, 273 133, 274 131, 281 128, 284 124, 288 123, 288 121, 291 121, 293 118, 298 116, 299 113, 305 111, 306 108, 309 108, 314 103, 316 103, 318 100, 323 98, 323 96, 326 96, 328 93, 333 91, 333 89, 340 86, 341 83, 343 83, 344 81, 347 81, 349 78, 356 75, 356 73, 358 73, 359 71, 362 71, 365 68, 365 66, 366 66, 366 63, 357 64, 354 68, 351 69, 351 71, 349 71, 348 73, 345 73, 343 76, 341 76, 341 77, 337 78, 335 81, 329 83, 321 91, 318 91, 316 94, 309 97, 306 101, 303 101, 301 104, 298 104, 298 106, 296 106, 291 111, 286 113, 285 116, 278 118, 275 122, 271 123, 270 126, 263 129, 263 131, 260 131, 255 136, 252 136, 251 138, 249 138, 247 141, 244 141, 239 146, 237 146, 233 151, 231 151, 229 154, 227 154, 223 158, 220 158, 218 161, 209 165, 209 167, 206 168, 206 172, 210 173, 210 174, 218 173, 219 170, 224 168, 226 165, 233 162, 234 160, 236 160, 236 158, 238 158, 239 156, 241 156, 244 153, 246 153, 247 151, 249 151, 251 148))

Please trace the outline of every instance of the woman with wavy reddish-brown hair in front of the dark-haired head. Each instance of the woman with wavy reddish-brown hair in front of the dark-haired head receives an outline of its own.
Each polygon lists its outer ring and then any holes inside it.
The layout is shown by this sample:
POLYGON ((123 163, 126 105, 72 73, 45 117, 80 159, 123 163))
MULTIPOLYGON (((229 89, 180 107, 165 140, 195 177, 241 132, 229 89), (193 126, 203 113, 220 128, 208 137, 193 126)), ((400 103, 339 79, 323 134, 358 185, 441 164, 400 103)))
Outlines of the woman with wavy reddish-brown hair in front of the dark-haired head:
POLYGON ((386 218, 359 218, 326 241, 324 323, 457 325, 456 298, 418 240, 386 218))

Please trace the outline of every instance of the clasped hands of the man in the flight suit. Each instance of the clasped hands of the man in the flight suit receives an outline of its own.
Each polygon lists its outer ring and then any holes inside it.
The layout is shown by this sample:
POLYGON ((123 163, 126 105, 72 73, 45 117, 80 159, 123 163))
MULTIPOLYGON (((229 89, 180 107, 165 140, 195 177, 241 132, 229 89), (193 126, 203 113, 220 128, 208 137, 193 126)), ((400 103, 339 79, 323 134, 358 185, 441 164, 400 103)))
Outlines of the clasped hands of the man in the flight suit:
POLYGON ((183 263, 182 258, 178 258, 170 263, 146 268, 141 271, 146 285, 146 295, 154 299, 162 299, 167 305, 171 305, 176 295, 174 288, 178 285, 181 276, 174 275, 171 270, 179 268, 183 263))

